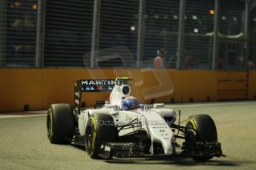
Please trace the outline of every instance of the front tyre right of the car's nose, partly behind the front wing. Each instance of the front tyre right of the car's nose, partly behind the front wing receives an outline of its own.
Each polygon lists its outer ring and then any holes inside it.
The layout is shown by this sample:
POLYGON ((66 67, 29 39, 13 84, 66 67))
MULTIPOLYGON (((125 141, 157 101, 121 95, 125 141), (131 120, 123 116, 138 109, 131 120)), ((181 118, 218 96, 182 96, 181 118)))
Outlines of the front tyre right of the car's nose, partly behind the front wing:
MULTIPOLYGON (((192 115, 186 122, 187 129, 193 129, 196 136, 186 137, 186 143, 217 142, 217 129, 214 120, 209 115, 192 115)), ((213 156, 192 157, 194 160, 210 160, 213 156)))

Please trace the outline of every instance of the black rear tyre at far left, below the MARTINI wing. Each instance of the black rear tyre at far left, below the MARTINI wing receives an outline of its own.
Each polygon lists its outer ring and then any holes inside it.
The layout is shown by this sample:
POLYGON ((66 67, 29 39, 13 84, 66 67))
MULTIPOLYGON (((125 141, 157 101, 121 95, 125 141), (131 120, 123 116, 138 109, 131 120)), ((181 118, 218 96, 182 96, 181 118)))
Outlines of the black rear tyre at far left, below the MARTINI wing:
POLYGON ((74 119, 70 104, 50 105, 47 112, 47 137, 50 143, 68 144, 73 139, 74 119))

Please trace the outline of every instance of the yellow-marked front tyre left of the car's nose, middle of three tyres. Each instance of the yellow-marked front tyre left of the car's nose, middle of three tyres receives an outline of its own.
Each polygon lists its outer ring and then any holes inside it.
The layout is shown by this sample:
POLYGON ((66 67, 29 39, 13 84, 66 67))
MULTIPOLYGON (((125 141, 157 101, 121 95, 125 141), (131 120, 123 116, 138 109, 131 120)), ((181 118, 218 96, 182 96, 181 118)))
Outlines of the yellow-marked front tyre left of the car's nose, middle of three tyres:
POLYGON ((103 142, 116 142, 117 132, 111 115, 91 115, 85 129, 85 149, 93 159, 99 157, 103 142))

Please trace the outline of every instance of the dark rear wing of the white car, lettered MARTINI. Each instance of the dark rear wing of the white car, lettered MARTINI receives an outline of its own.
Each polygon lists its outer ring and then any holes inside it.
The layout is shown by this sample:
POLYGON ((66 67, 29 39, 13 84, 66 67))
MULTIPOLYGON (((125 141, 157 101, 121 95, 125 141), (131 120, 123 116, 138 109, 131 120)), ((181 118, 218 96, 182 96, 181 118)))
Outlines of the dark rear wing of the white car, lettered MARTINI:
POLYGON ((82 92, 111 92, 115 85, 129 84, 134 78, 77 80, 74 84, 74 112, 80 114, 82 92))

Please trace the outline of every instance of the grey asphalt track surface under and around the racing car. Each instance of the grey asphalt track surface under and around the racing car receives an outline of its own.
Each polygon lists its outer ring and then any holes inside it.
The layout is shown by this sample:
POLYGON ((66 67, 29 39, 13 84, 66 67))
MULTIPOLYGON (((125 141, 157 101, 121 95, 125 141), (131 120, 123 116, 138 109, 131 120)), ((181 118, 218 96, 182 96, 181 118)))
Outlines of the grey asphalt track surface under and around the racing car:
POLYGON ((256 101, 168 105, 182 109, 181 120, 207 113, 214 119, 226 157, 205 163, 189 157, 92 160, 85 149, 53 145, 45 112, 0 115, 0 169, 256 169, 256 101))

